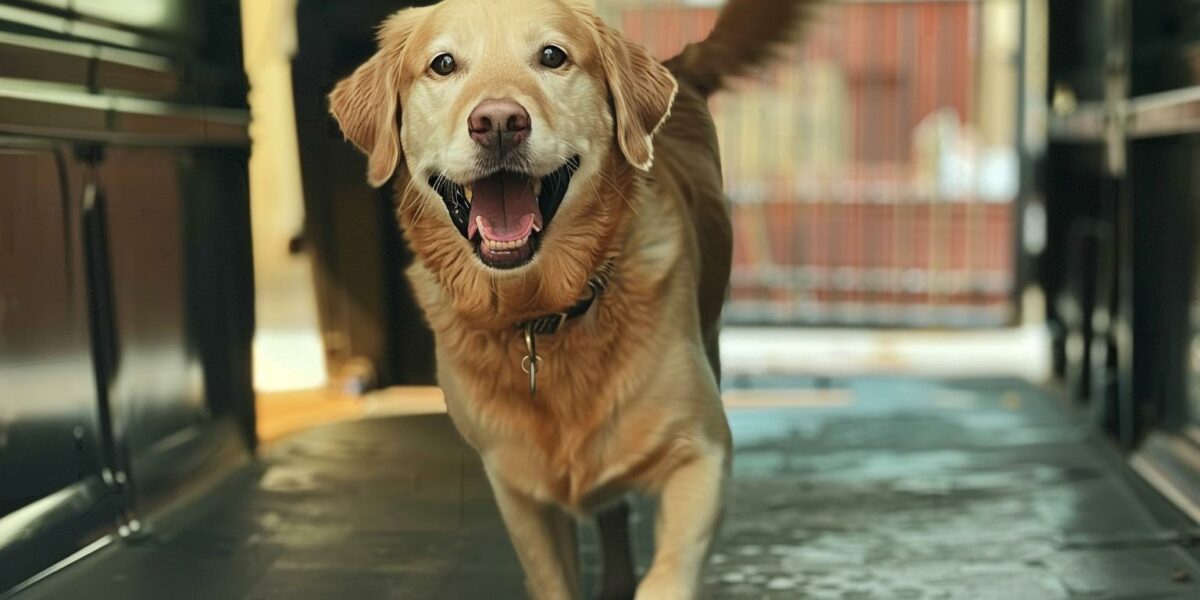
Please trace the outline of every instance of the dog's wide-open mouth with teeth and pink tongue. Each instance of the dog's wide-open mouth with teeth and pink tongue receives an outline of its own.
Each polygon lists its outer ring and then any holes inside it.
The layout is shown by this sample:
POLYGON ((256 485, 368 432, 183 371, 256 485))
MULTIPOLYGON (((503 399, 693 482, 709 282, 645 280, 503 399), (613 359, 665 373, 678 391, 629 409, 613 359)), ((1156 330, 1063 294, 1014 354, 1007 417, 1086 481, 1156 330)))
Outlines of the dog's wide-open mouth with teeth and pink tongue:
POLYGON ((576 156, 544 178, 500 170, 466 186, 434 175, 430 185, 484 264, 516 269, 533 260, 578 169, 576 156))

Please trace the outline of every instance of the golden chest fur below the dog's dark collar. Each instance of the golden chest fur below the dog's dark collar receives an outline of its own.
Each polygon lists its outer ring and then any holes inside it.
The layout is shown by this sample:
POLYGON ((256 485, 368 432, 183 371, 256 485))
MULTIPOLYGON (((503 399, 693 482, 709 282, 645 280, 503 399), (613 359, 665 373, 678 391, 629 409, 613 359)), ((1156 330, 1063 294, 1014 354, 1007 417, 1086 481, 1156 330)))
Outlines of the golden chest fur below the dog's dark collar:
POLYGON ((602 319, 596 314, 562 338, 545 340, 536 397, 518 367, 522 341, 509 334, 490 343, 516 352, 487 353, 509 360, 455 360, 458 374, 448 386, 460 430, 468 437, 486 431, 473 443, 492 472, 530 497, 580 511, 655 479, 653 473, 686 455, 686 444, 672 436, 690 430, 679 427, 688 413, 678 403, 695 396, 685 388, 698 374, 691 367, 700 361, 661 340, 637 347, 623 343, 622 332, 602 340, 606 334, 595 329, 602 319), (593 352, 580 354, 581 346, 593 352), (490 370, 480 373, 488 377, 462 374, 485 362, 490 370))

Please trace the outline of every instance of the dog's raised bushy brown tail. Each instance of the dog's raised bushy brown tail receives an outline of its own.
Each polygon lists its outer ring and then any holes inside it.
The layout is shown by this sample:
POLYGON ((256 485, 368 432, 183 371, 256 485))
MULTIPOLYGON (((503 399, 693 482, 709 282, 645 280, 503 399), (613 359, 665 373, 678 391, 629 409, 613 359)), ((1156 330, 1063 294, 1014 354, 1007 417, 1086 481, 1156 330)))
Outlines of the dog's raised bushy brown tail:
POLYGON ((666 61, 677 78, 703 94, 721 89, 732 77, 767 66, 799 38, 815 8, 827 0, 728 0, 707 40, 666 61))

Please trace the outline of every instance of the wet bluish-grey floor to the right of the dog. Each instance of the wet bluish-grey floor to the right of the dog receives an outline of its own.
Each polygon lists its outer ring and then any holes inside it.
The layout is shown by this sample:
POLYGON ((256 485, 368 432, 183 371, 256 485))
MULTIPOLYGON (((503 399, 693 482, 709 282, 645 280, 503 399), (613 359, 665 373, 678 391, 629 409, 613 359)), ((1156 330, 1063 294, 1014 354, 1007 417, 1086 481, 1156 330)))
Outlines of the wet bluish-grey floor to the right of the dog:
POLYGON ((714 598, 1200 598, 1193 529, 1015 383, 857 382, 738 410, 714 598))

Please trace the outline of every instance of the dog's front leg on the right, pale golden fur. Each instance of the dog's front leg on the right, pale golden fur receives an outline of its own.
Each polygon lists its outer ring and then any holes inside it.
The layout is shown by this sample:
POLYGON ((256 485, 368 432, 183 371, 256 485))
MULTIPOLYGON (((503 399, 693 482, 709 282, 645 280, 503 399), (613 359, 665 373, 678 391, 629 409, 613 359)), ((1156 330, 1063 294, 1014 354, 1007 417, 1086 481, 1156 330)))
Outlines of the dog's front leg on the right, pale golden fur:
POLYGON ((692 600, 716 534, 728 452, 714 448, 678 467, 662 487, 654 563, 636 600, 692 600))

